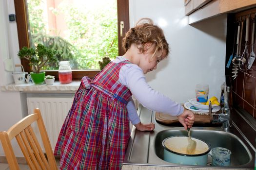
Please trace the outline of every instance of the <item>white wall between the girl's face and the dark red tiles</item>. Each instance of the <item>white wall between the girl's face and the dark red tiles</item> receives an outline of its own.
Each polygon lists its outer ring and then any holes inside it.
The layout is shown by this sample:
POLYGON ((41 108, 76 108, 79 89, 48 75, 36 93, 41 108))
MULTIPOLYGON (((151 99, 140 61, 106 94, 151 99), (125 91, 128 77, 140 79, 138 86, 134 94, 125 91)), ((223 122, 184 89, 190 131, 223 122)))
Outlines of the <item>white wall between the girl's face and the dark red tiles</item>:
POLYGON ((195 98, 197 83, 209 85, 209 97, 220 98, 224 82, 227 17, 188 25, 184 0, 129 0, 130 27, 141 17, 160 26, 171 53, 146 75, 149 84, 176 102, 195 98))

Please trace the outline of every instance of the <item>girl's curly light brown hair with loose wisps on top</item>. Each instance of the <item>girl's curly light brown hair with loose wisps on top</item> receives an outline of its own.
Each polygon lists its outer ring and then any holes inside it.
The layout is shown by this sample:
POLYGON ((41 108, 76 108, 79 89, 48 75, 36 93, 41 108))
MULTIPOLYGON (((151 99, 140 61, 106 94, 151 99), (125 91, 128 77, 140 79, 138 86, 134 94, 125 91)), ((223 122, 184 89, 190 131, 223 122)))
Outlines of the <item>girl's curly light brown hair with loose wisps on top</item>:
POLYGON ((122 48, 127 51, 135 43, 141 53, 145 52, 146 43, 154 44, 154 57, 161 57, 163 52, 165 56, 169 54, 169 44, 167 43, 163 30, 154 25, 150 18, 141 18, 135 27, 131 28, 122 39, 122 48))

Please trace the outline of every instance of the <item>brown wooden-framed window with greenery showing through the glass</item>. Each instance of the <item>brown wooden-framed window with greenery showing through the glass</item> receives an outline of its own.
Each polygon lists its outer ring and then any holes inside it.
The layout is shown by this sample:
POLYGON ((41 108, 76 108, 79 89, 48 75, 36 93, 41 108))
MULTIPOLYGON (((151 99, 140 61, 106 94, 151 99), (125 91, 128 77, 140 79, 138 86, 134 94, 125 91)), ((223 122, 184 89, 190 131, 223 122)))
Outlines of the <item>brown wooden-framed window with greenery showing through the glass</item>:
MULTIPOLYGON (((14 0, 20 49, 37 43, 50 44, 57 50, 60 61, 71 62, 73 80, 80 80, 85 75, 93 78, 99 72, 98 61, 102 57, 114 59, 124 54, 121 38, 129 30, 128 0, 96 1, 14 0), (43 1, 45 3, 41 3, 43 1), (103 2, 106 3, 103 5, 105 8, 96 8, 103 2), (68 11, 71 13, 67 15, 68 11), (87 46, 89 44, 92 46, 87 46)), ((25 71, 31 71, 28 61, 21 60, 21 64, 25 71)), ((54 75, 58 79, 58 66, 52 65, 45 71, 46 75, 54 75)))

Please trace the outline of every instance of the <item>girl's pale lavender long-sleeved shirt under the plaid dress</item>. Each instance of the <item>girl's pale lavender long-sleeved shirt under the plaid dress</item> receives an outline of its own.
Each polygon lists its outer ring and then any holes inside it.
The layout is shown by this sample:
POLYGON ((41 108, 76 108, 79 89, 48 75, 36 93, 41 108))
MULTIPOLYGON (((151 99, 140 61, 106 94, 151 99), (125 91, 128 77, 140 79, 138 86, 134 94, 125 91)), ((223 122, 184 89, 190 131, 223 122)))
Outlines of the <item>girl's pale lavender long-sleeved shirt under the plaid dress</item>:
MULTIPOLYGON (((119 56, 113 62, 118 63, 123 60, 126 59, 119 56)), ((151 88, 146 82, 142 69, 135 64, 122 66, 118 81, 127 86, 138 102, 150 110, 172 116, 178 116, 184 111, 183 106, 151 88)), ((132 124, 138 124, 140 119, 132 97, 126 107, 132 124)))

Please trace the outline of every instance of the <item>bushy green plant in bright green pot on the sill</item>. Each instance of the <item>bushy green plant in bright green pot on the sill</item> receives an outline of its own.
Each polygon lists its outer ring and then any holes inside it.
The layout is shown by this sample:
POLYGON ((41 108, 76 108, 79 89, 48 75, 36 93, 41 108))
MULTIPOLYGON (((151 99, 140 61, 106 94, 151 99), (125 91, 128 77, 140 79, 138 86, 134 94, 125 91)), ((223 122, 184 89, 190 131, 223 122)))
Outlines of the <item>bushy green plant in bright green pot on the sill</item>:
POLYGON ((29 65, 32 66, 32 72, 30 72, 31 79, 36 85, 43 84, 45 78, 45 71, 40 71, 46 65, 57 63, 58 58, 56 52, 51 49, 38 44, 36 48, 23 47, 18 56, 20 59, 25 58, 29 61, 29 65))

